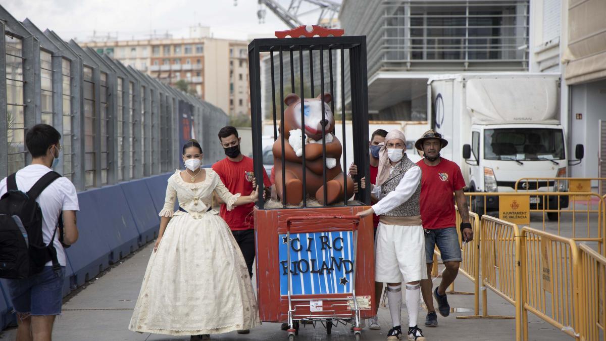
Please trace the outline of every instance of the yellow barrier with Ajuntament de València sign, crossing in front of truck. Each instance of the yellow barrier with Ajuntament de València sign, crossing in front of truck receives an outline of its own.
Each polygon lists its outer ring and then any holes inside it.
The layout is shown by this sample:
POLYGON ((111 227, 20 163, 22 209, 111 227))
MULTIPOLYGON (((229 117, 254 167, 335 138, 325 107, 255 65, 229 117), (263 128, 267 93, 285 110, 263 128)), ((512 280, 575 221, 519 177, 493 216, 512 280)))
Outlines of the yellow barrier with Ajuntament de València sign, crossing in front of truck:
MULTIPOLYGON (((531 209, 528 214, 541 213, 541 220, 537 221, 536 217, 530 220, 530 223, 524 223, 530 227, 540 227, 542 231, 547 229, 553 230, 554 234, 562 237, 572 238, 576 241, 592 241, 599 245, 603 255, 606 255, 606 196, 601 197, 599 194, 591 192, 490 192, 490 193, 465 193, 468 197, 468 202, 472 211, 478 214, 487 214, 491 200, 492 202, 512 200, 517 198, 524 200, 526 203, 531 201, 531 198, 538 198, 538 203, 530 204, 531 209), (584 197, 587 204, 580 205, 577 201, 573 201, 572 207, 569 208, 548 208, 545 203, 549 198, 554 198, 559 203, 559 198, 567 197, 584 197), (528 200, 528 201, 526 201, 528 200), (480 212, 478 212, 478 203, 480 203, 480 212), (579 207, 581 206, 581 207, 579 207), (596 208, 593 208, 596 206, 596 208), (534 207, 534 208, 532 208, 534 207), (550 225, 545 219, 547 214, 557 214, 557 224, 554 221, 550 225), (570 215, 570 221, 562 221, 562 216, 570 215), (585 224, 584 228, 578 228, 579 221, 585 224)), ((521 208, 518 208, 521 210, 521 208)), ((521 211, 521 213, 523 213, 521 211)))

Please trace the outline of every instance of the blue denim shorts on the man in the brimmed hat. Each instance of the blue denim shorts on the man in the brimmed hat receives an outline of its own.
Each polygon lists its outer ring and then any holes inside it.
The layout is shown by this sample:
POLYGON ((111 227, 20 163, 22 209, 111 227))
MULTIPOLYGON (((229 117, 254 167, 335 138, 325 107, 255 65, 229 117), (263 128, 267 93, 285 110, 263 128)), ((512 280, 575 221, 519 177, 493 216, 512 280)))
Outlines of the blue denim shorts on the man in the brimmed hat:
POLYGON ((456 228, 425 229, 425 262, 433 262, 433 251, 438 246, 442 262, 461 262, 461 246, 456 228))

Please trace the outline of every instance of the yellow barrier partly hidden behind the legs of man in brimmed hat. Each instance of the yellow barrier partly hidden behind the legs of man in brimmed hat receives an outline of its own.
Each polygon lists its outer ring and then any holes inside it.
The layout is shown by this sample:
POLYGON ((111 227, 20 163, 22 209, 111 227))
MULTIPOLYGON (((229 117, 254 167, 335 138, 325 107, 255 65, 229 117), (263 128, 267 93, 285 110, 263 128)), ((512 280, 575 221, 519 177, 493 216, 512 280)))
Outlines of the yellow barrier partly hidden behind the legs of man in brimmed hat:
MULTIPOLYGON (((459 215, 459 208, 454 206, 455 214, 456 214, 456 224, 455 226, 461 225, 461 215, 459 215)), ((465 275, 468 279, 471 280, 474 284, 474 291, 455 291, 454 290, 454 282, 450 285, 447 294, 459 294, 459 295, 474 295, 474 312, 476 315, 479 315, 479 286, 480 286, 480 250, 479 250, 479 240, 480 240, 480 218, 477 214, 473 212, 469 212, 469 221, 471 223, 471 229, 473 230, 473 240, 468 242, 465 245, 461 245, 461 258, 463 258, 461 264, 459 265, 459 273, 465 275)), ((459 243, 461 242, 461 229, 458 227, 457 234, 459 236, 459 243)), ((433 277, 439 277, 438 274, 438 257, 440 256, 440 251, 436 247, 433 255, 433 268, 431 269, 431 275, 433 277)))

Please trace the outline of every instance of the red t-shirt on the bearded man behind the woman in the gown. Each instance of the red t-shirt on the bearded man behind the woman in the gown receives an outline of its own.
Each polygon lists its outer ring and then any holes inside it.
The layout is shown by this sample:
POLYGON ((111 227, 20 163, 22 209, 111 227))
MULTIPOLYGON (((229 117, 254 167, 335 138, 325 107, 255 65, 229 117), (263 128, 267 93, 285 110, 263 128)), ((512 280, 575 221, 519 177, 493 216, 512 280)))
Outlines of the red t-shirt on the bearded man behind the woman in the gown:
MULTIPOLYGON (((219 175, 231 194, 250 195, 253 192, 252 175, 255 172, 253 159, 244 156, 241 161, 234 162, 224 158, 213 164, 213 170, 219 175)), ((265 170, 263 170, 263 179, 265 187, 270 187, 271 183, 265 170)), ((259 193, 259 195, 262 194, 259 193)), ((253 207, 255 207, 255 203, 236 206, 231 211, 227 211, 227 206, 221 204, 221 218, 234 231, 252 229, 255 227, 253 207)))

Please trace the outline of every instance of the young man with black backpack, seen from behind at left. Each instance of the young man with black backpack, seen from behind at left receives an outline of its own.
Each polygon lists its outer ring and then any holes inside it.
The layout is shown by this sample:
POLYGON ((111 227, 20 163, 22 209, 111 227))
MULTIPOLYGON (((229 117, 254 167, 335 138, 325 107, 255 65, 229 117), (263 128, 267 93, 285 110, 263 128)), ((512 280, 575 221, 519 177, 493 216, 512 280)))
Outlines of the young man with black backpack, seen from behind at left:
POLYGON ((78 239, 76 187, 52 170, 60 139, 48 124, 28 129, 32 163, 0 181, 0 278, 7 279, 17 313, 17 340, 51 339, 61 314, 63 245, 78 239))

